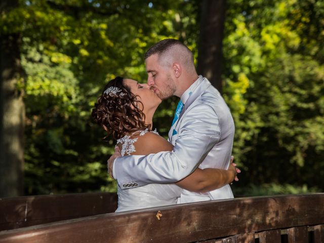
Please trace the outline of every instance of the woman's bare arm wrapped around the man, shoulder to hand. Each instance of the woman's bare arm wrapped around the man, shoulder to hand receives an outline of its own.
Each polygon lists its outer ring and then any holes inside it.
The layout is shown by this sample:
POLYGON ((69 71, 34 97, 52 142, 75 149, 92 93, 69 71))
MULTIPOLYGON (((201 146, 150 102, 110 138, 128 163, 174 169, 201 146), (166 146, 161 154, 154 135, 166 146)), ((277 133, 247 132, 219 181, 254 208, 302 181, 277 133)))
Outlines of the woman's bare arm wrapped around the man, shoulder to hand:
MULTIPOLYGON (((173 145, 153 133, 139 136, 135 143, 136 151, 132 155, 147 155, 161 151, 172 151, 173 145)), ((189 176, 176 184, 186 190, 194 192, 206 192, 220 188, 229 184, 235 179, 236 168, 230 163, 228 170, 207 168, 201 170, 197 168, 189 176)))

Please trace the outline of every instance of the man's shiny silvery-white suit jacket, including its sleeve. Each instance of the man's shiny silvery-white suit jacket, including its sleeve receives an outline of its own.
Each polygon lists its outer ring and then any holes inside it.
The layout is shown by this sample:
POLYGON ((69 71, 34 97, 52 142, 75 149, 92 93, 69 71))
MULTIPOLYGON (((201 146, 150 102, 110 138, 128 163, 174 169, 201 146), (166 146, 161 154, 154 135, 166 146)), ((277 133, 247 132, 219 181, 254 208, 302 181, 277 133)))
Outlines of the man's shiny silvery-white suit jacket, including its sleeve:
MULTIPOLYGON (((230 110, 207 78, 198 79, 181 96, 184 108, 169 132, 173 151, 116 158, 113 176, 121 189, 149 183, 172 183, 198 166, 227 169, 234 137, 230 110)), ((179 203, 232 198, 229 185, 205 193, 182 191, 179 203)))

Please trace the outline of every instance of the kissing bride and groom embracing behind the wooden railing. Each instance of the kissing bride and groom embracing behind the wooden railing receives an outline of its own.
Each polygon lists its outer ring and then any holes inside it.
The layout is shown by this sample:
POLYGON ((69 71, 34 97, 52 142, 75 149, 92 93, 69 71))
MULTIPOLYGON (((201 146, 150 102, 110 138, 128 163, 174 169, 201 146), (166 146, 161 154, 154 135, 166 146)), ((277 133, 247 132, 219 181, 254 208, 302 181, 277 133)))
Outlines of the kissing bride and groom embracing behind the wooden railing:
POLYGON ((197 74, 192 52, 177 39, 149 48, 145 64, 147 84, 116 77, 92 110, 117 141, 107 161, 118 182, 116 212, 233 198, 229 183, 240 171, 232 163, 234 122, 224 99, 197 74), (180 101, 167 141, 152 118, 173 95, 180 101))

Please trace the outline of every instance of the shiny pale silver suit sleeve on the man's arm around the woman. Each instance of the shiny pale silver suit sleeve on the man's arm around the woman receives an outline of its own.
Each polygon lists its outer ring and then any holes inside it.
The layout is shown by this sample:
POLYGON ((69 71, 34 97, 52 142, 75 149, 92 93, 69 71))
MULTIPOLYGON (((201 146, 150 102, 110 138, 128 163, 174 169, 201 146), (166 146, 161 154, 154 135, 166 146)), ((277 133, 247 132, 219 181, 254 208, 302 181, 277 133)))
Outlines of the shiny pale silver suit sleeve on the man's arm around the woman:
POLYGON ((128 185, 172 183, 191 174, 219 142, 219 119, 207 104, 191 108, 181 120, 173 151, 116 158, 114 176, 121 189, 128 185))

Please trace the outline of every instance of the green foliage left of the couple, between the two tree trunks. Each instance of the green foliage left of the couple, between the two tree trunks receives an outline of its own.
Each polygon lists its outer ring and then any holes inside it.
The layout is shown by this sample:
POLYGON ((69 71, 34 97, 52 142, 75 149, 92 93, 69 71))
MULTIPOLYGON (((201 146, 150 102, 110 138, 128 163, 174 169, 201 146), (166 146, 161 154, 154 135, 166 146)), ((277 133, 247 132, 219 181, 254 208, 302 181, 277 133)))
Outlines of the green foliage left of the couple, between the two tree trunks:
MULTIPOLYGON (((184 1, 21 0, 1 16, 1 33, 22 36, 27 194, 116 189, 106 172, 115 141, 102 141, 91 119, 96 98, 117 75, 146 82, 144 52, 162 38, 196 49, 196 10, 184 1)), ((156 113, 164 136, 176 103, 156 113)))

